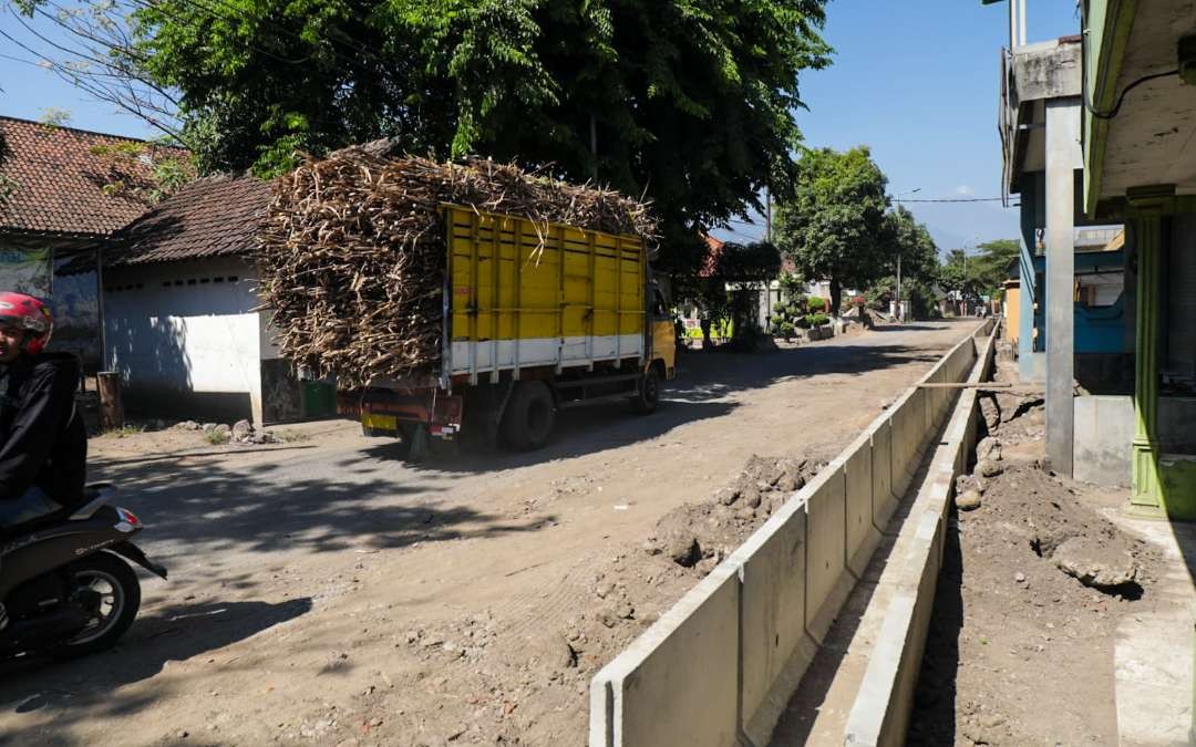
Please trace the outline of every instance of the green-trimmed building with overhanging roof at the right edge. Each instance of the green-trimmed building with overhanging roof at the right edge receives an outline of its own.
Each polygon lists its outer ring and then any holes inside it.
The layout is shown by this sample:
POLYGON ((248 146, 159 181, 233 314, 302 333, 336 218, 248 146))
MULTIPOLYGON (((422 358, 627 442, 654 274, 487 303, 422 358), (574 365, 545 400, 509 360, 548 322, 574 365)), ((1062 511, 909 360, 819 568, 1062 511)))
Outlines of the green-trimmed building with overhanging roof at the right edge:
POLYGON ((1135 510, 1196 520, 1196 17, 1086 0, 1084 210, 1124 220, 1136 269, 1135 510))

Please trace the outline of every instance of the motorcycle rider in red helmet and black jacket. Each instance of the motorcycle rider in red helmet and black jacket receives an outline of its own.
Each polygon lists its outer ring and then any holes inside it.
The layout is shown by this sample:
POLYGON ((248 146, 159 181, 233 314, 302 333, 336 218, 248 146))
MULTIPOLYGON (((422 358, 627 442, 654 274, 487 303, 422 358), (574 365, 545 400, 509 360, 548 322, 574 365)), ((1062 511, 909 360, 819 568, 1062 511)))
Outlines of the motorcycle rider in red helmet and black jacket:
MULTIPOLYGON (((53 331, 42 301, 0 292, 0 537, 83 498, 87 430, 74 404, 79 362, 45 353, 53 331)), ((0 630, 7 623, 0 605, 0 630)))

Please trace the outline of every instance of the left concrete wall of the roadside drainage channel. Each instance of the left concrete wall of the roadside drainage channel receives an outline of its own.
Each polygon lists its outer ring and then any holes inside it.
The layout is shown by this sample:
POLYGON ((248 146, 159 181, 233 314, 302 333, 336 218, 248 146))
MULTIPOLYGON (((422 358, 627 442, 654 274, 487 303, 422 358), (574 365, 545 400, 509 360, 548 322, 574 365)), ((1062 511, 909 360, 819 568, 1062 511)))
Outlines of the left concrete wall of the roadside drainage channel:
MULTIPOLYGON (((960 381, 975 356, 969 336, 917 384, 960 381)), ((917 384, 594 675, 591 747, 768 742, 950 411, 954 391, 917 384)), ((941 555, 940 526, 915 535, 941 555)), ((901 594, 920 613, 915 565, 901 594)))

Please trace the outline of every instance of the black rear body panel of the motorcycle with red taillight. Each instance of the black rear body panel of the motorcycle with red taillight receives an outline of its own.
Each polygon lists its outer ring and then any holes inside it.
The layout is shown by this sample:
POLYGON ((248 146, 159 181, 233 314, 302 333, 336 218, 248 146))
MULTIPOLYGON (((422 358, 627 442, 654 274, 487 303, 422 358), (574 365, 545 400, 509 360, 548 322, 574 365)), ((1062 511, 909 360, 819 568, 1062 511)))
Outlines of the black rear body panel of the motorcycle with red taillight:
POLYGON ((0 547, 0 600, 30 578, 127 543, 139 531, 117 509, 105 506, 91 519, 63 521, 19 537, 0 547))

